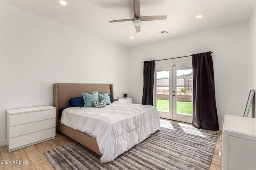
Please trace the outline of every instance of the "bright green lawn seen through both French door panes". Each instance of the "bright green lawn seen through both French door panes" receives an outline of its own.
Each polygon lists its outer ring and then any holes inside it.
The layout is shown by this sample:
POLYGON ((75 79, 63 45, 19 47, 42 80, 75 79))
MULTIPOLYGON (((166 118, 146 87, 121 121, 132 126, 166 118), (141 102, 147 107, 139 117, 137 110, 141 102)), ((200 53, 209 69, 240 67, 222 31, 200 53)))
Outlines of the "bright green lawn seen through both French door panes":
MULTIPOLYGON (((187 113, 192 115, 192 102, 178 102, 177 101, 177 112, 187 113)), ((162 111, 169 111, 169 100, 156 100, 156 108, 162 111)))

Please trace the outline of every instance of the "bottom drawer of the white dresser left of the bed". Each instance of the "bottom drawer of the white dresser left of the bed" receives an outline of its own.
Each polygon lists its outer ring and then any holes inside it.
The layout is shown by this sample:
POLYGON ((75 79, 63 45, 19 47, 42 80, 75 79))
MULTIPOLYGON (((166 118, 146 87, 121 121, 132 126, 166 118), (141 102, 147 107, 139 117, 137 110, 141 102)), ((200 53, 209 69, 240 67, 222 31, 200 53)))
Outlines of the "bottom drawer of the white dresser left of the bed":
POLYGON ((43 131, 38 131, 34 133, 29 133, 26 135, 21 135, 18 137, 10 138, 9 140, 9 150, 18 148, 20 146, 32 145, 38 141, 42 141, 48 138, 55 137, 55 127, 51 129, 46 129, 43 131))

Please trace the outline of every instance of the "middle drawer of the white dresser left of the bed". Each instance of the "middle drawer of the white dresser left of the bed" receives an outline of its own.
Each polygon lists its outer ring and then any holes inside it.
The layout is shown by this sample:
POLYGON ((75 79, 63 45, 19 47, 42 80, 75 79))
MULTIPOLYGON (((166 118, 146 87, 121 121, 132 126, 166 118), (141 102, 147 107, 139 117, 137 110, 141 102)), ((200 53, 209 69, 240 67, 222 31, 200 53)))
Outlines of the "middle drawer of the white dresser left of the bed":
POLYGON ((10 138, 55 127, 55 118, 10 127, 10 138))

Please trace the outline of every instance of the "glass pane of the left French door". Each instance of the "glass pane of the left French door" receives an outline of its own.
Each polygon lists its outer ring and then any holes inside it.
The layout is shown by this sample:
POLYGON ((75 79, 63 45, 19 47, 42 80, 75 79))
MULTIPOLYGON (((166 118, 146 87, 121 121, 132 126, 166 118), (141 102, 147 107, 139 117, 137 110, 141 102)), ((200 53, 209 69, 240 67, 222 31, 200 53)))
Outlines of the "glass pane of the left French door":
POLYGON ((156 72, 156 108, 159 111, 169 112, 169 71, 156 72))

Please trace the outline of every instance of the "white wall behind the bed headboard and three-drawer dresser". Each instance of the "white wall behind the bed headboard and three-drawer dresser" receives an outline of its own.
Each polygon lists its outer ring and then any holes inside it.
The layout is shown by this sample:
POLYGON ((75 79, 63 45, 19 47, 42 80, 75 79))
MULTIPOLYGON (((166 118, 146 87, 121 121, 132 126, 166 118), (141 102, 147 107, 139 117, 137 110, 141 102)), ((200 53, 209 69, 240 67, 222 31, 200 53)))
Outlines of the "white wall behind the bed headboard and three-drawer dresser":
POLYGON ((53 83, 110 83, 128 91, 126 47, 0 2, 0 146, 6 109, 53 104, 53 83))

